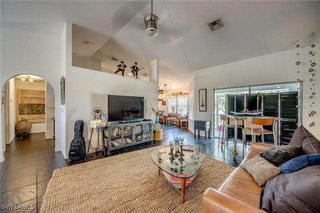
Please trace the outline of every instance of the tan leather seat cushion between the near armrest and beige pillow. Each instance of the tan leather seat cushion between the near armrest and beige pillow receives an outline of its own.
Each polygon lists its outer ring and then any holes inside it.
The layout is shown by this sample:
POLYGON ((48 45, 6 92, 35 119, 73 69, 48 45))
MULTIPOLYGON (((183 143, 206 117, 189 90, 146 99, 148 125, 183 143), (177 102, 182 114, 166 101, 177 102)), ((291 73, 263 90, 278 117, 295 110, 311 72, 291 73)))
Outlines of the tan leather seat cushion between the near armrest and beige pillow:
POLYGON ((237 167, 222 184, 219 192, 242 201, 255 208, 259 207, 261 187, 243 168, 237 167))

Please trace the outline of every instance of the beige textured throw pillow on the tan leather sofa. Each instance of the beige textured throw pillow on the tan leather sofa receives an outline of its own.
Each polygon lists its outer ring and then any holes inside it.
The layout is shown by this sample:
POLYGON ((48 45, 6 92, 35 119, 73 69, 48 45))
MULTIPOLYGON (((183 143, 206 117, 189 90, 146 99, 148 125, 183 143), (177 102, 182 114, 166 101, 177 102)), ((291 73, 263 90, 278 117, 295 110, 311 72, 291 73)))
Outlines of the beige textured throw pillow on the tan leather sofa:
POLYGON ((266 181, 274 178, 281 172, 281 168, 270 164, 264 158, 259 155, 254 156, 242 165, 254 179, 260 187, 265 184, 266 181))

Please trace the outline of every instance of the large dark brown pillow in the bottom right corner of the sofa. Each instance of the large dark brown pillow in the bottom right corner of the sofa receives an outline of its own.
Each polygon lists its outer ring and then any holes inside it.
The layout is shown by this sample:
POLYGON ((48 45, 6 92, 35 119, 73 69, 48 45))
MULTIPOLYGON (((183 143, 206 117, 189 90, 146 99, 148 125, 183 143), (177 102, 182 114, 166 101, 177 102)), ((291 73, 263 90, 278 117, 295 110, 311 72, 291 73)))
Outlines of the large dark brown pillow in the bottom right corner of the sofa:
POLYGON ((259 208, 274 213, 315 213, 320 210, 320 165, 280 174, 266 182, 259 208))

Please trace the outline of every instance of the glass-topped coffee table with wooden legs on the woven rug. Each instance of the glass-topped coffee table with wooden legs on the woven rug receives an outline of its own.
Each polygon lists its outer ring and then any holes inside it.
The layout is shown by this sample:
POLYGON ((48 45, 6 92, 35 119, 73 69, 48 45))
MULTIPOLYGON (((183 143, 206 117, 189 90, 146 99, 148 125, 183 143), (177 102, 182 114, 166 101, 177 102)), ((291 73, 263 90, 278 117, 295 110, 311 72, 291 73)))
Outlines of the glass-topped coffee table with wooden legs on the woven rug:
POLYGON ((184 203, 185 186, 193 180, 204 160, 201 145, 173 145, 151 152, 151 159, 158 167, 158 175, 163 171, 165 178, 176 188, 181 189, 181 201, 184 203), (172 147, 171 147, 172 148, 172 147), (180 153, 178 153, 178 152, 180 153))

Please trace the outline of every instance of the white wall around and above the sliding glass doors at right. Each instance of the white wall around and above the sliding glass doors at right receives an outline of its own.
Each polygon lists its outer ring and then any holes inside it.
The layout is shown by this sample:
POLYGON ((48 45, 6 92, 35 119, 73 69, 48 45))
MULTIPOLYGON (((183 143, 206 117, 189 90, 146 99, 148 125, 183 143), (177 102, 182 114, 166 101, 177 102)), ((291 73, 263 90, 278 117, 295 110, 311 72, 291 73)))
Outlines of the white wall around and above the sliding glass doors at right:
MULTIPOLYGON (((319 44, 316 44, 314 48, 316 67, 314 77, 314 89, 310 90, 309 79, 311 73, 308 72, 310 68, 310 56, 308 54, 310 47, 299 48, 299 77, 297 77, 297 66, 295 62, 297 60, 297 51, 288 50, 284 52, 278 52, 274 54, 264 55, 256 58, 250 58, 247 60, 228 63, 220 66, 209 67, 202 70, 195 71, 194 74, 194 108, 196 120, 210 120, 212 122, 213 115, 213 89, 239 87, 248 85, 270 84, 280 82, 295 82, 297 78, 303 81, 302 97, 302 124, 306 127, 316 138, 320 138, 320 107, 319 107, 319 44), (206 89, 207 111, 199 112, 198 106, 198 90, 206 89), (316 111, 316 115, 309 117, 310 112, 310 99, 309 95, 311 91, 314 91, 316 95, 313 98, 315 104, 313 109, 316 111), (310 121, 315 122, 315 126, 309 128, 310 121)), ((192 81, 192 79, 190 80, 192 81)), ((190 88, 189 88, 190 90, 190 88)))

